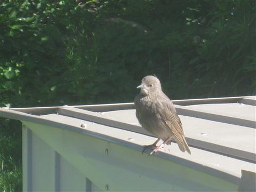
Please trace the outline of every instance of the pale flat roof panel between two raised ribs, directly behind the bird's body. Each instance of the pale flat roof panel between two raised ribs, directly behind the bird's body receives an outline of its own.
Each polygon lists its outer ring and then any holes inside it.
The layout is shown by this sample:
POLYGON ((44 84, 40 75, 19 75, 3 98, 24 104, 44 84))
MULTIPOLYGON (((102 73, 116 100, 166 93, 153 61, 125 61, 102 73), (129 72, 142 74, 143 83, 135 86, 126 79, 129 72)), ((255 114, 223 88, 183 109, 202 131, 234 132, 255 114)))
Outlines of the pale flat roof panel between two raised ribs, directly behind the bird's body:
MULTIPOLYGON (((223 104, 219 104, 223 105, 223 104)), ((135 110, 109 111, 102 116, 118 119, 132 125, 139 125, 135 110)), ((231 148, 255 152, 255 129, 207 119, 179 115, 186 137, 216 143, 231 148), (239 140, 239 142, 237 142, 239 140)))

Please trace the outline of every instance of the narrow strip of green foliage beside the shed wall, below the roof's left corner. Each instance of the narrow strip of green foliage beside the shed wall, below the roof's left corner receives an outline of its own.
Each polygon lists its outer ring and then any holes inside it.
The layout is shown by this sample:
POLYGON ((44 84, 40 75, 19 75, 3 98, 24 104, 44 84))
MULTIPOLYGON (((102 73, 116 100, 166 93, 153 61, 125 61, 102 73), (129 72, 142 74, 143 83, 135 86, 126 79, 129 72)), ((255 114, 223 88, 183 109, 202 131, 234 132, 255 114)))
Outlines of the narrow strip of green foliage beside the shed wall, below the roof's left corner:
POLYGON ((0 118, 0 190, 21 191, 21 123, 0 118))

